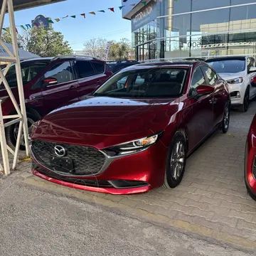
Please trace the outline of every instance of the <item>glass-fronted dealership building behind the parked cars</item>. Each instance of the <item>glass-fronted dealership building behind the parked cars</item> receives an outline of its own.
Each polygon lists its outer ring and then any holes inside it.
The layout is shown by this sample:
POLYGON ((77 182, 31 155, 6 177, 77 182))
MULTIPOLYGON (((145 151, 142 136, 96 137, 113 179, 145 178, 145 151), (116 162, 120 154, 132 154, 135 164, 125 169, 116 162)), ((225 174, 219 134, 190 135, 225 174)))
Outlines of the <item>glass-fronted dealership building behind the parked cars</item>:
POLYGON ((122 0, 138 60, 256 55, 256 0, 122 0))

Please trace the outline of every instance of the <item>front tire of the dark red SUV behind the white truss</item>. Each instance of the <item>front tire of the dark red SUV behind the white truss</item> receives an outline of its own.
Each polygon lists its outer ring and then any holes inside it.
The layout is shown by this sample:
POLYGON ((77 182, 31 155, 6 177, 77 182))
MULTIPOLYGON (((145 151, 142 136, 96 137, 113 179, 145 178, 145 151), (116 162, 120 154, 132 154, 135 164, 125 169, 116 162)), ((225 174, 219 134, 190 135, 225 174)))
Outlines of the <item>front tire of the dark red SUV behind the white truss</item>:
MULTIPOLYGON (((38 121, 38 117, 28 112, 27 119, 28 119, 28 133, 30 133, 31 127, 36 121, 38 121)), ((19 125, 19 122, 6 128, 6 142, 11 147, 11 149, 15 149, 16 147, 18 125, 19 125)), ((26 150, 23 136, 21 137, 20 150, 26 150)))

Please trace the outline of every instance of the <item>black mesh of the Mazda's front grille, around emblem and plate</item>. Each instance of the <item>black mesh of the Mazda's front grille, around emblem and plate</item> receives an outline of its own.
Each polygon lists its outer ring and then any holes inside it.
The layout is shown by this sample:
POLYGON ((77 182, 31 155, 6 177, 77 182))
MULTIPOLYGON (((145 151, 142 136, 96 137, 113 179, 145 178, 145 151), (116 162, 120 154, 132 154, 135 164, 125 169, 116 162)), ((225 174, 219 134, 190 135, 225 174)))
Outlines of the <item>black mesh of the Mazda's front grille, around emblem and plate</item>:
POLYGON ((97 174, 105 164, 105 155, 90 146, 78 146, 71 144, 59 144, 35 140, 32 142, 32 152, 36 160, 51 169, 50 159, 56 157, 54 147, 63 146, 67 151, 66 157, 74 163, 73 175, 94 175, 97 174))

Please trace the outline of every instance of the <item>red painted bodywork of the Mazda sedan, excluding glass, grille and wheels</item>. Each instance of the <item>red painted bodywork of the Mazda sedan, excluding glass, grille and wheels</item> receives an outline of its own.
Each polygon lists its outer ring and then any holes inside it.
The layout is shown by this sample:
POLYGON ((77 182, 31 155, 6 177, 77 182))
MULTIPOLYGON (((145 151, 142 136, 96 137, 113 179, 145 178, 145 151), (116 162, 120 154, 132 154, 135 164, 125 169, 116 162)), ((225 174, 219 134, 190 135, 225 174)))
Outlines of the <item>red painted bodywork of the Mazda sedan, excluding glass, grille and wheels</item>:
MULTIPOLYGON (((37 167, 33 167, 33 174, 72 188, 113 194, 141 193, 161 186, 164 182, 166 156, 174 133, 182 130, 186 134, 187 154, 191 154, 223 120, 225 104, 230 100, 228 85, 221 79, 210 95, 202 95, 199 99, 188 97, 191 75, 201 64, 169 64, 172 68, 188 70, 181 97, 127 99, 87 96, 85 100, 50 112, 33 130, 32 143, 34 140, 41 140, 56 144, 90 146, 100 151, 163 132, 156 144, 139 153, 114 159, 102 173, 95 176, 75 176, 78 179, 97 181, 144 181, 146 186, 103 189, 67 183, 60 178, 50 177, 51 170, 42 166, 34 156, 33 161, 37 167)), ((137 67, 131 67, 133 68, 137 67)))

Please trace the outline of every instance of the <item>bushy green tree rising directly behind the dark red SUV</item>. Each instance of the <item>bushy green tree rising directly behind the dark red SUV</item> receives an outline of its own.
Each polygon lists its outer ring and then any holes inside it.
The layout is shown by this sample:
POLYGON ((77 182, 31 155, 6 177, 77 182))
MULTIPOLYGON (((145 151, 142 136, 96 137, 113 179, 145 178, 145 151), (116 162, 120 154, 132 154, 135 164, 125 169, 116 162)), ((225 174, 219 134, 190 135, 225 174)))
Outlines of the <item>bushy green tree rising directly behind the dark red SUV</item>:
POLYGON ((52 27, 33 27, 26 31, 22 36, 21 45, 25 50, 41 57, 55 57, 73 53, 68 41, 64 41, 63 34, 54 31, 52 27))

